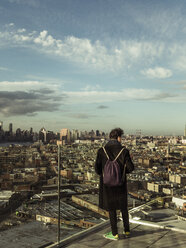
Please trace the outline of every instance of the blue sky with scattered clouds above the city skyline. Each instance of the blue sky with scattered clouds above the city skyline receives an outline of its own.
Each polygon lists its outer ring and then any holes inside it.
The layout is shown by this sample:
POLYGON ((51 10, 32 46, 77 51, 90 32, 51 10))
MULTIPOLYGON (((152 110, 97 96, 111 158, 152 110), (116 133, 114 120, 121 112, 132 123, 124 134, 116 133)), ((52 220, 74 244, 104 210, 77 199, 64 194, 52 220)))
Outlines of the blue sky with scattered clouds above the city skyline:
POLYGON ((1 0, 0 120, 183 134, 186 2, 1 0))

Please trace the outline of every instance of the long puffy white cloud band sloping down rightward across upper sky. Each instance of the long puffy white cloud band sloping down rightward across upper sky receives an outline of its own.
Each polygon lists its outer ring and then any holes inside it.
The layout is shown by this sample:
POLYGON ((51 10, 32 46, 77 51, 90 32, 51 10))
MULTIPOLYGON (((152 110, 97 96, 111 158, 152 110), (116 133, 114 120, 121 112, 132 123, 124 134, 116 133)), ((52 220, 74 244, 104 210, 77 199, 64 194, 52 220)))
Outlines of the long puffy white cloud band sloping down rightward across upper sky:
POLYGON ((120 41, 109 49, 99 40, 92 42, 86 38, 68 36, 55 39, 47 30, 26 32, 23 29, 0 33, 3 45, 27 46, 39 52, 58 56, 62 59, 100 70, 118 71, 132 65, 152 62, 161 56, 163 44, 144 41, 120 41), (24 34, 23 34, 24 33, 24 34))

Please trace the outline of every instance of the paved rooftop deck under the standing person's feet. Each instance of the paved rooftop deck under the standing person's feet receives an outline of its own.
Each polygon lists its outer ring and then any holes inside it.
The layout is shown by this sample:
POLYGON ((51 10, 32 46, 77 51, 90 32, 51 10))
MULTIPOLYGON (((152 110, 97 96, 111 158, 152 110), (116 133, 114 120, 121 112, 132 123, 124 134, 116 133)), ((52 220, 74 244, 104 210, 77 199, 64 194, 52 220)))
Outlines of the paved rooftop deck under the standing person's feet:
POLYGON ((79 238, 71 238, 64 240, 60 245, 49 247, 69 247, 69 248, 87 248, 87 247, 125 247, 125 248, 185 248, 186 232, 173 231, 171 229, 161 229, 157 227, 150 227, 141 224, 131 224, 131 237, 125 238, 122 235, 123 225, 122 221, 118 223, 120 239, 118 241, 108 240, 103 235, 110 231, 108 225, 99 230, 93 230, 87 235, 79 236, 79 238))

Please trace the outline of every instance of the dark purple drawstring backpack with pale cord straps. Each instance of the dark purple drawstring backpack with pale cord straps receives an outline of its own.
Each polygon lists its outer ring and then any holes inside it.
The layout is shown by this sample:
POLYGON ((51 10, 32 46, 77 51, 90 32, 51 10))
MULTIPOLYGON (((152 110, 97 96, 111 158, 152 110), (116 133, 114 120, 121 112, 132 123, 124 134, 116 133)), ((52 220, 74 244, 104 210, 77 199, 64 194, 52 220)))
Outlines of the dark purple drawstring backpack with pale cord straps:
POLYGON ((103 150, 108 158, 104 169, 103 169, 103 183, 107 186, 113 187, 113 186, 120 186, 123 184, 123 176, 125 175, 125 167, 124 167, 124 172, 123 175, 121 174, 121 169, 120 166, 118 164, 118 162, 116 161, 120 154, 122 153, 122 151, 124 150, 124 148, 121 149, 121 151, 118 153, 118 155, 116 156, 116 158, 112 161, 110 160, 105 147, 103 147, 103 150))

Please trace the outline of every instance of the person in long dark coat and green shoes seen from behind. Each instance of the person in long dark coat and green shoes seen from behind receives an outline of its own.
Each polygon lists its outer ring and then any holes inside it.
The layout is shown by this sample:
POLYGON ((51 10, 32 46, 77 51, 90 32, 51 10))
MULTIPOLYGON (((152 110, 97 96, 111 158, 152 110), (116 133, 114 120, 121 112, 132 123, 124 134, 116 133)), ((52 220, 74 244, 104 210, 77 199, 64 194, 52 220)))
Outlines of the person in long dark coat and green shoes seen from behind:
POLYGON ((118 240, 117 213, 120 210, 126 237, 130 236, 126 174, 134 170, 129 150, 121 145, 123 130, 115 128, 110 140, 97 152, 95 171, 100 176, 99 207, 109 212, 111 232, 105 238, 118 240), (119 179, 118 179, 119 178, 119 179))

